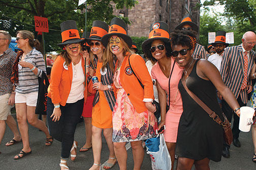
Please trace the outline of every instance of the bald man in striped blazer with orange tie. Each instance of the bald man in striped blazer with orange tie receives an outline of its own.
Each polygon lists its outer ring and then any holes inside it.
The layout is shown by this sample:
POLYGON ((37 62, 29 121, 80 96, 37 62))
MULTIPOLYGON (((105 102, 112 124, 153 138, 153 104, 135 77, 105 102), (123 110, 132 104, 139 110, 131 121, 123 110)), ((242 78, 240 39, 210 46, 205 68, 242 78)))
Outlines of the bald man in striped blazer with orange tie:
MULTIPOLYGON (((256 53, 251 50, 255 44, 255 33, 251 31, 245 32, 242 38, 242 44, 227 48, 222 57, 220 68, 222 80, 234 93, 240 107, 246 106, 248 101, 247 94, 252 90, 249 75, 256 57, 256 53)), ((241 144, 238 140, 240 133, 240 130, 238 129, 239 117, 229 107, 225 100, 222 100, 222 111, 225 113, 230 122, 232 120, 232 115, 234 114, 234 124, 232 128, 233 144, 236 147, 240 147, 241 144)), ((230 157, 229 148, 230 146, 228 146, 226 143, 223 145, 222 156, 230 157)))

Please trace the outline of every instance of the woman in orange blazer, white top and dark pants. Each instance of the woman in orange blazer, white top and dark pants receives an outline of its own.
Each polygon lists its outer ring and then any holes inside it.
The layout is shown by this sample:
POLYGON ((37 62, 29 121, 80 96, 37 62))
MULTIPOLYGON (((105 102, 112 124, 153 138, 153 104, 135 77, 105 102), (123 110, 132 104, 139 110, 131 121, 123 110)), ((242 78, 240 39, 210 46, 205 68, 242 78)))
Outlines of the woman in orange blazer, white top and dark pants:
POLYGON ((60 168, 69 169, 67 159, 70 154, 71 160, 76 158, 74 134, 87 98, 84 59, 80 53, 84 39, 80 39, 75 21, 62 22, 60 27, 62 43, 58 46, 64 51, 56 58, 51 70, 47 118, 50 134, 61 142, 60 168))

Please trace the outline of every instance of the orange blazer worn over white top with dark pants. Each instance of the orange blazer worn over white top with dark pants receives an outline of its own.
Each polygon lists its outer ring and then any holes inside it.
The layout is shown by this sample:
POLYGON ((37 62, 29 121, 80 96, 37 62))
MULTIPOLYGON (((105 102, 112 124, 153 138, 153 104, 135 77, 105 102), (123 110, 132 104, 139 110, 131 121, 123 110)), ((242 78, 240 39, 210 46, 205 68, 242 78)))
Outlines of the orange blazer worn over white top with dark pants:
MULTIPOLYGON (((70 94, 72 78, 73 78, 72 64, 70 64, 69 66, 66 66, 66 69, 65 69, 63 66, 64 62, 65 60, 61 56, 58 56, 54 61, 54 64, 51 70, 50 86, 48 87, 48 97, 51 98, 52 103, 53 104, 59 103, 61 106, 66 105, 67 99, 70 94)), ((83 57, 82 57, 81 65, 84 72, 83 57)), ((86 81, 86 78, 85 78, 85 81, 86 81)), ((85 84, 84 102, 86 102, 87 83, 84 82, 84 84, 85 84)))

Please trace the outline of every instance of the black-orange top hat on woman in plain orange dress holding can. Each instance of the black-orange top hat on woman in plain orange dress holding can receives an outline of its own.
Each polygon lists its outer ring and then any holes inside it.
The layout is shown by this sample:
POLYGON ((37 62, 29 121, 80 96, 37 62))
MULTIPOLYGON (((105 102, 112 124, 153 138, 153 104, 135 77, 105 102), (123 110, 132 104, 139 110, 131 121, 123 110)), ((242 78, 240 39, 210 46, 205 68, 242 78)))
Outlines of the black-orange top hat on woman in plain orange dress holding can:
POLYGON ((85 38, 86 40, 101 40, 104 35, 108 33, 109 26, 103 21, 95 20, 92 23, 92 28, 90 32, 89 38, 85 38))

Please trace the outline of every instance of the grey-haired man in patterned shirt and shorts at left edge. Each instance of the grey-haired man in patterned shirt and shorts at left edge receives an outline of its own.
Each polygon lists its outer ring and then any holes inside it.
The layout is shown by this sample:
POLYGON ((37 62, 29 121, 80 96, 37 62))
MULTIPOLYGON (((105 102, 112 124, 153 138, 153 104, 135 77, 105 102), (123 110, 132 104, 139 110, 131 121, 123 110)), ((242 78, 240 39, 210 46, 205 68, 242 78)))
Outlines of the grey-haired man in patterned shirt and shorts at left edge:
MULTIPOLYGON (((11 146, 21 141, 16 121, 11 115, 11 105, 15 100, 15 87, 11 82, 12 66, 17 54, 8 48, 11 43, 11 35, 0 31, 0 143, 6 130, 6 122, 14 134, 14 138, 6 144, 11 146)), ((1 153, 1 152, 0 152, 1 153)))

